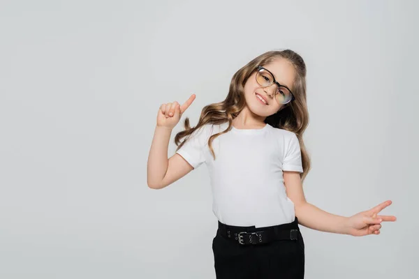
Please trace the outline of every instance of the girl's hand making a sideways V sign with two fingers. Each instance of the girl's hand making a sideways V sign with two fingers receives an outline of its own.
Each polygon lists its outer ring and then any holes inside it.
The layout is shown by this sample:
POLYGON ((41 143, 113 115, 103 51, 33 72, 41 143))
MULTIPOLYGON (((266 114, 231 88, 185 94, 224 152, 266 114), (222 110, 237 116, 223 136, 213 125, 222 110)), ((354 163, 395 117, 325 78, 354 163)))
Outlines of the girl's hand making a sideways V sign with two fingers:
POLYGON ((382 221, 395 221, 395 216, 377 215, 385 207, 392 204, 390 200, 374 206, 372 209, 362 211, 347 220, 348 234, 351 236, 366 236, 380 234, 382 221))

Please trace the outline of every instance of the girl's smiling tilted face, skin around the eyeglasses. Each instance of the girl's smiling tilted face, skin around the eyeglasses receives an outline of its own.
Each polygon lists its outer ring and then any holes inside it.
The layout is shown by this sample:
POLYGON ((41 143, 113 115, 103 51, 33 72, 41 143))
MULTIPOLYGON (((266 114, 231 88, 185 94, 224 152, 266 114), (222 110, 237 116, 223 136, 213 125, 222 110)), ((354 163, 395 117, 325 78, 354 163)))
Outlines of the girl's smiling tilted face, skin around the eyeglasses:
MULTIPOLYGON (((291 62, 283 58, 278 58, 272 63, 261 66, 274 74, 274 78, 279 84, 285 85, 293 91, 292 85, 295 70, 291 62)), ((275 90, 277 90, 276 84, 272 84, 265 88, 260 86, 258 82, 256 82, 256 72, 253 73, 246 84, 244 84, 244 98, 249 110, 258 116, 270 116, 277 113, 283 105, 278 103, 274 98, 275 90), (262 100, 258 98, 257 94, 262 98, 265 98, 267 104, 263 103, 262 100)))

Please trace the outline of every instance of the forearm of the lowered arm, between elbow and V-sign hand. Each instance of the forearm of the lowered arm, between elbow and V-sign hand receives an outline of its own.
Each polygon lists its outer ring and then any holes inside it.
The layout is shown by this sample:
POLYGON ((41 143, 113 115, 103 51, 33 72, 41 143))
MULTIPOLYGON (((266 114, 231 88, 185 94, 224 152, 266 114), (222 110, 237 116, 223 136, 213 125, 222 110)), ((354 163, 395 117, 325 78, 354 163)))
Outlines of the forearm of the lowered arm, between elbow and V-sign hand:
POLYGON ((347 217, 328 213, 308 202, 295 206, 295 216, 298 218, 298 223, 304 227, 321 232, 348 234, 347 217))

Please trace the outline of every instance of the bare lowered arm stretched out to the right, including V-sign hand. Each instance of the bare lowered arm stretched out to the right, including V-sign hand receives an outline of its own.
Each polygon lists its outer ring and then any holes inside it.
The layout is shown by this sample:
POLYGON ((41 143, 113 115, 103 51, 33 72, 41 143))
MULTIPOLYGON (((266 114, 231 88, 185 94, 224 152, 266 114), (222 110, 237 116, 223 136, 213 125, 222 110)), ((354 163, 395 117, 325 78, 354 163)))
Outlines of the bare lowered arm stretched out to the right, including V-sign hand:
POLYGON ((390 200, 354 216, 345 217, 328 213, 307 202, 298 172, 284 171, 284 184, 288 197, 295 205, 295 216, 298 218, 298 223, 310 229, 316 229, 321 232, 364 236, 379 234, 382 221, 396 220, 395 216, 378 215, 380 211, 391 204, 390 200))

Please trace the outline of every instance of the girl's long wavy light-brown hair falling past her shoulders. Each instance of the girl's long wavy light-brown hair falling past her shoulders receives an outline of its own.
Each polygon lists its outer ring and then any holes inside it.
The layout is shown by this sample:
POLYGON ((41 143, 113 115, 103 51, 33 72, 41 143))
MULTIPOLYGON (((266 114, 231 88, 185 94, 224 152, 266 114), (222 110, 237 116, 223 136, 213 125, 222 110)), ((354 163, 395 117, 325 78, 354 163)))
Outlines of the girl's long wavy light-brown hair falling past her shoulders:
POLYGON ((237 70, 231 79, 230 89, 228 91, 226 100, 203 107, 198 124, 193 128, 189 126, 189 118, 186 117, 184 119, 185 130, 177 133, 175 136, 175 144, 177 145, 176 151, 182 147, 186 140, 188 140, 187 136, 191 135, 195 130, 198 130, 205 124, 221 124, 228 121, 229 125, 226 130, 222 131, 221 133, 212 135, 208 140, 208 146, 210 147, 210 151, 215 160, 215 153, 212 149, 212 141, 219 135, 227 133, 232 129, 233 119, 235 119, 235 117, 245 107, 246 102, 244 99, 244 84, 246 84, 249 77, 257 70, 258 66, 264 66, 278 58, 288 59, 288 61, 290 61, 295 68, 296 75, 292 86, 295 100, 286 105, 283 105, 277 113, 272 114, 271 116, 267 116, 265 123, 269 123, 270 126, 275 128, 289 130, 297 135, 297 138, 300 142, 303 169, 300 177, 302 181, 304 181, 311 165, 309 153, 307 153, 302 139, 304 130, 307 128, 309 123, 306 96, 307 70, 302 57, 292 50, 272 50, 270 52, 265 52, 264 54, 260 54, 260 56, 257 56, 255 59, 251 60, 240 70, 237 70), (183 137, 186 137, 186 139, 180 143, 180 140, 183 137))

